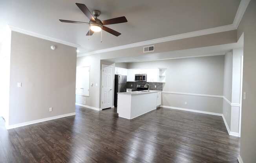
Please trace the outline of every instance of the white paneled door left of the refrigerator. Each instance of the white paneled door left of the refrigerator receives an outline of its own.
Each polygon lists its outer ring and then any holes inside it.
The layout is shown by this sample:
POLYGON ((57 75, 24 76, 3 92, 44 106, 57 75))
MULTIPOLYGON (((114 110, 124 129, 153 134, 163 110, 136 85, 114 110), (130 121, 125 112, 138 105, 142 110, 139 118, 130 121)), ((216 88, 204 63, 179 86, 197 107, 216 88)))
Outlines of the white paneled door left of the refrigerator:
POLYGON ((113 67, 102 65, 101 109, 112 107, 113 67))

